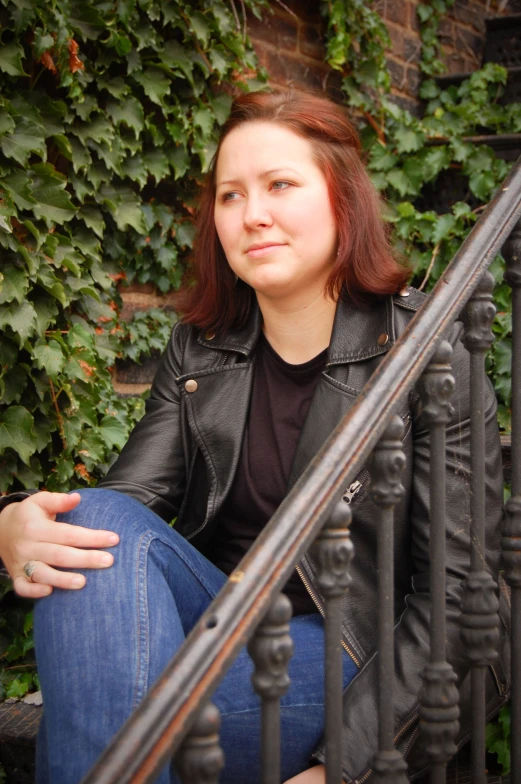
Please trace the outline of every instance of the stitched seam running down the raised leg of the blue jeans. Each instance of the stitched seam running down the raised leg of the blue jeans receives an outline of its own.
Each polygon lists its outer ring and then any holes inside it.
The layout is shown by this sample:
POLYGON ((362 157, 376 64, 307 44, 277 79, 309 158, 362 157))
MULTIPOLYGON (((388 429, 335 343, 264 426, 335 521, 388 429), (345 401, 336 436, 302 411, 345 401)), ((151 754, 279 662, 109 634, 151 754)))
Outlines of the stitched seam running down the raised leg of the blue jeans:
POLYGON ((148 620, 147 560, 150 543, 155 539, 153 531, 144 533, 136 553, 136 596, 137 596, 137 651, 136 679, 132 706, 135 708, 143 699, 148 687, 150 658, 150 630, 148 620))

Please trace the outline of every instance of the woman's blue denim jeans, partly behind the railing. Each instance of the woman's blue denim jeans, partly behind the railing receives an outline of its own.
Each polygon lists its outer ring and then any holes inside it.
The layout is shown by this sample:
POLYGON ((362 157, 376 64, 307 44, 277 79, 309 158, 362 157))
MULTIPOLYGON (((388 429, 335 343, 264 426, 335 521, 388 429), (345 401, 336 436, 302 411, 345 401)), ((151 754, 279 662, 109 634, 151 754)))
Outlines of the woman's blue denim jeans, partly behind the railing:
MULTIPOLYGON (((35 643, 44 699, 38 784, 78 784, 173 657, 226 582, 175 529, 139 501, 112 490, 83 490, 60 519, 115 531, 114 565, 86 570, 79 591, 54 589, 37 602, 35 643)), ((282 781, 309 767, 324 721, 323 624, 291 621, 291 687, 281 701, 282 781)), ((221 781, 260 776, 260 702, 245 649, 217 688, 226 765, 221 781)), ((344 652, 344 687, 357 672, 344 652)), ((168 768, 157 781, 173 784, 168 768)))

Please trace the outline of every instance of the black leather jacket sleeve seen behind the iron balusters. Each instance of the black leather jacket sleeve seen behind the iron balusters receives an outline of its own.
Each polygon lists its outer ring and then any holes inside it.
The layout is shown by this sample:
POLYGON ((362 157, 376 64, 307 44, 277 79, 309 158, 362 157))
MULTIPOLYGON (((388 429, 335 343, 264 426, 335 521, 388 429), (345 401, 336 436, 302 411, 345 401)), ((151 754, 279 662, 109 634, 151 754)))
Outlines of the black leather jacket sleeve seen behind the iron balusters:
MULTIPOLYGON (((456 389, 454 414, 447 426, 446 453, 446 619, 447 659, 458 681, 466 675, 458 617, 462 581, 470 568, 470 404, 469 355, 461 342, 454 346, 456 389)), ((496 420, 496 400, 486 383, 486 562, 497 579, 502 516, 503 475, 496 420)), ((414 395, 417 398, 416 394, 414 395)), ((418 715, 422 672, 429 660, 429 433, 420 406, 413 406, 413 484, 410 499, 410 542, 413 562, 411 590, 395 626, 394 705, 396 736, 410 736, 418 715)), ((356 514, 355 514, 356 522, 356 514)), ((356 558, 356 553, 355 553, 356 558)), ((376 630, 375 630, 376 634, 376 630)), ((356 782, 371 768, 378 748, 378 654, 375 654, 344 693, 343 768, 346 781, 356 782)), ((403 749, 402 749, 403 750, 403 749)), ((323 760, 324 749, 316 753, 323 760)))

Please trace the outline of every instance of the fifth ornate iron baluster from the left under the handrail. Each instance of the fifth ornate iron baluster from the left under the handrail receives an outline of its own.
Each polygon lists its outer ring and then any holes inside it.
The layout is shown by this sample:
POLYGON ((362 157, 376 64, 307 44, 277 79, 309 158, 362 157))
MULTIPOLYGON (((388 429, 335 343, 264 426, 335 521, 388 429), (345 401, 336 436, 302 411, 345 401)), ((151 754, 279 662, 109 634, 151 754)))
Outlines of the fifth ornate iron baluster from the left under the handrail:
POLYGON ((446 661, 445 642, 445 427, 450 421, 454 378, 452 347, 442 341, 420 382, 423 416, 430 432, 430 585, 431 652, 423 672, 420 730, 432 763, 432 784, 445 784, 446 765, 457 749, 458 689, 456 674, 446 661))

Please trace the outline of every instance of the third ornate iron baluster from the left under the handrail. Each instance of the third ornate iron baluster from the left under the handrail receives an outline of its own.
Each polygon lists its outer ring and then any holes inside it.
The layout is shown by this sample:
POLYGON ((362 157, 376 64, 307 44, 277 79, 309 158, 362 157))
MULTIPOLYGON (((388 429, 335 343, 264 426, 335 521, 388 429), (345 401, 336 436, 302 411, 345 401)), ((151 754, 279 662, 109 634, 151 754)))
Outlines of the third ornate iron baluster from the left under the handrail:
POLYGON ((325 604, 326 784, 342 780, 342 599, 351 582, 350 523, 351 509, 339 501, 311 550, 325 604))

